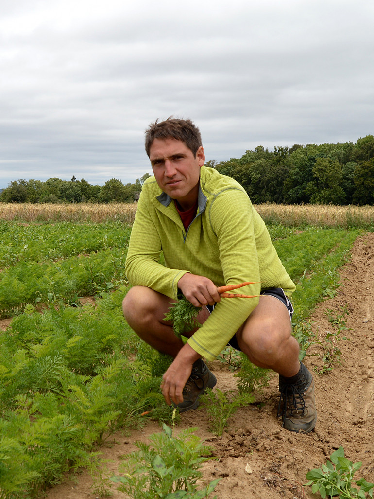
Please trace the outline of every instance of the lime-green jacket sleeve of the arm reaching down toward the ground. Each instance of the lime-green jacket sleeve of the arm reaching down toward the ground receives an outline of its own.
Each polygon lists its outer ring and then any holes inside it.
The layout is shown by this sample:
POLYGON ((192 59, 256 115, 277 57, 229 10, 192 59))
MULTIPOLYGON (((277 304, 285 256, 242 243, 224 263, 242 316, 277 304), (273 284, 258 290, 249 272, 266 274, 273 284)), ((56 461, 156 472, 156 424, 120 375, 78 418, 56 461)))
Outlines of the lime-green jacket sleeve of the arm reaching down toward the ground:
MULTIPOLYGON (((217 235, 224 281, 226 284, 256 282, 240 288, 241 293, 249 295, 258 295, 261 289, 255 214, 248 196, 239 189, 220 194, 209 213, 209 222, 217 235)), ((265 225, 259 229, 267 233, 265 225)), ((270 237, 268 243, 271 245, 270 237)), ((222 298, 204 324, 189 338, 189 345, 200 355, 213 360, 257 306, 258 300, 258 296, 222 298)))

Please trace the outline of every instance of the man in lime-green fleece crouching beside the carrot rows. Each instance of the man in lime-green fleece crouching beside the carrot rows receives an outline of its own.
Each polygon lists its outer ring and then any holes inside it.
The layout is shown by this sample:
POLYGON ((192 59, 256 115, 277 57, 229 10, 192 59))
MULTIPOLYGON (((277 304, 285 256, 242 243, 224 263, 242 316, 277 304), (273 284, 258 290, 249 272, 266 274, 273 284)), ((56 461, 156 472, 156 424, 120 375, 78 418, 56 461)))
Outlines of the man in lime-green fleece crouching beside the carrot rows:
POLYGON ((134 287, 123 311, 144 341, 174 358, 163 376, 166 402, 181 412, 196 408, 216 383, 201 357, 212 360, 229 343, 256 366, 279 373, 283 426, 311 432, 314 383, 298 360, 286 296, 295 285, 264 222, 240 184, 204 166, 200 133, 190 120, 151 124, 146 152, 154 177, 144 183, 138 203, 126 260, 134 287), (241 291, 259 297, 219 296, 217 286, 247 281, 253 284, 241 291), (179 292, 201 307, 202 325, 185 334, 186 344, 164 318, 179 292))

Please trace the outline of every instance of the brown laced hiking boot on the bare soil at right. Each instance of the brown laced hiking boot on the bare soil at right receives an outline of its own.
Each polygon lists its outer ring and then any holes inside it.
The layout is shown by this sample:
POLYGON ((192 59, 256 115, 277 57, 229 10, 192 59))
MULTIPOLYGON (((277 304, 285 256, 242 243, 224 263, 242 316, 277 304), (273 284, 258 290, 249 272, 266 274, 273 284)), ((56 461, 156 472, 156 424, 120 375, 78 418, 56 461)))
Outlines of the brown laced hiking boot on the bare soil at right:
POLYGON ((278 417, 282 416, 283 427, 296 433, 311 432, 317 421, 314 381, 302 362, 296 376, 279 376, 279 391, 278 417))

